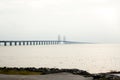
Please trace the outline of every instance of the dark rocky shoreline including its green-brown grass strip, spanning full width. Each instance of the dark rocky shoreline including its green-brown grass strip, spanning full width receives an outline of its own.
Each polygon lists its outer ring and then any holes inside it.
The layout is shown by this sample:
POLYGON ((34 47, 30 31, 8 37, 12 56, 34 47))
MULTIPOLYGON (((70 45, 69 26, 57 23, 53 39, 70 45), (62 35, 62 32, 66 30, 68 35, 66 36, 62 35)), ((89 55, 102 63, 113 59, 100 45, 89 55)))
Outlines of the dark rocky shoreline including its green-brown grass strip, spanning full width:
POLYGON ((0 67, 0 75, 49 75, 58 73, 69 73, 72 75, 92 77, 92 80, 120 80, 120 71, 91 74, 79 69, 59 69, 59 68, 35 68, 35 67, 0 67))

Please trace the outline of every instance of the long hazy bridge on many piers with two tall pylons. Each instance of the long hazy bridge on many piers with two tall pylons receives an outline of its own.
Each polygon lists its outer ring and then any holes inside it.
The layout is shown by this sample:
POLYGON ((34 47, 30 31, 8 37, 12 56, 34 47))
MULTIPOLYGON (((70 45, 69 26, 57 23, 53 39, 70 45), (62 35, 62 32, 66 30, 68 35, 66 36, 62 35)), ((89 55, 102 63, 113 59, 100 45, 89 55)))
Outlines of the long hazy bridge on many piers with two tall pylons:
POLYGON ((2 40, 0 41, 0 46, 22 46, 22 45, 58 45, 58 44, 77 44, 79 42, 66 41, 64 37, 63 40, 2 40))

